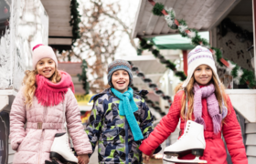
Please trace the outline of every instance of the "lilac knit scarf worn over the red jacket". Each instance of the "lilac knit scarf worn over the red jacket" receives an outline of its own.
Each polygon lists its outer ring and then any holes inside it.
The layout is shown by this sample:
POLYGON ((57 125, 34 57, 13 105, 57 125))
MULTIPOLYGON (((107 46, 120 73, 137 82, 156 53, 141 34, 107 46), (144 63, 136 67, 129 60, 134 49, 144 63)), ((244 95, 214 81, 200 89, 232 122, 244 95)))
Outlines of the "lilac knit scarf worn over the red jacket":
POLYGON ((195 122, 206 128, 204 118, 202 118, 202 98, 207 98, 208 113, 212 119, 213 131, 218 134, 221 128, 222 116, 219 114, 219 103, 214 94, 215 87, 213 84, 207 87, 199 87, 197 83, 194 85, 194 117, 195 122))

